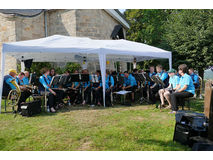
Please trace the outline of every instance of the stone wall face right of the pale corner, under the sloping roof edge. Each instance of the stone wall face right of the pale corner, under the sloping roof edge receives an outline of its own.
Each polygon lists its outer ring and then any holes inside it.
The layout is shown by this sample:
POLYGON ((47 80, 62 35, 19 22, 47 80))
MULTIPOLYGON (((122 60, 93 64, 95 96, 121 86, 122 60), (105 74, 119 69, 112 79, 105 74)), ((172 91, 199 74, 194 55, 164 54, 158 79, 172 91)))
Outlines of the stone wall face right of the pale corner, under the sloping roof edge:
MULTIPOLYGON (((120 24, 103 9, 78 9, 76 10, 76 36, 90 37, 92 39, 111 39, 110 36, 115 25, 120 24)), ((124 29, 124 35, 126 31, 124 29)), ((106 66, 115 70, 113 62, 106 66)), ((122 63, 122 70, 126 70, 126 63, 122 63)), ((88 63, 88 69, 100 69, 99 62, 88 63)))

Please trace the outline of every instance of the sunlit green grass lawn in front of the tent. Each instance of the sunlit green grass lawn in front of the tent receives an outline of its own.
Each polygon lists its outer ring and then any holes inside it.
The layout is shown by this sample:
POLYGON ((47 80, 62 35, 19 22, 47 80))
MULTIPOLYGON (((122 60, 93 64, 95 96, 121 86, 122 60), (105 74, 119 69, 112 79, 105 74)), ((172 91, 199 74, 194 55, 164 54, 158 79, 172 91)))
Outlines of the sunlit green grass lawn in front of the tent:
MULTIPOLYGON (((203 101, 192 106, 203 112, 203 101)), ((4 113, 0 114, 0 150, 190 150, 172 141, 175 115, 168 112, 154 105, 135 105, 69 107, 30 118, 4 113)))

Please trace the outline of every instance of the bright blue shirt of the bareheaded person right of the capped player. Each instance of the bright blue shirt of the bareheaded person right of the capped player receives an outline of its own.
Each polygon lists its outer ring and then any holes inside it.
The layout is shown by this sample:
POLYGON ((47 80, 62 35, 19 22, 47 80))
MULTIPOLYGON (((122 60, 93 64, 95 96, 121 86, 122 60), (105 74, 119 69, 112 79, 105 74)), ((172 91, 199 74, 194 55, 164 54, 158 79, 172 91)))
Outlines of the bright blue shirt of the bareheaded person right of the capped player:
POLYGON ((187 88, 185 91, 195 94, 195 87, 194 87, 192 78, 187 73, 181 76, 179 84, 180 84, 180 88, 183 88, 184 85, 187 85, 187 88))

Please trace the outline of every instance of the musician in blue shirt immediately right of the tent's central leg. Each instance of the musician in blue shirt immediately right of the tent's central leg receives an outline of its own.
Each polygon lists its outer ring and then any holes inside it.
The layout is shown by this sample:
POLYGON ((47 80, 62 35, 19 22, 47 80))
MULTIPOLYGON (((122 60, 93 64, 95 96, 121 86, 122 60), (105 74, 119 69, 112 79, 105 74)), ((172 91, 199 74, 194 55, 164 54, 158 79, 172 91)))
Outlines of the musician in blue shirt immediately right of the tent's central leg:
POLYGON ((112 75, 110 75, 109 71, 106 71, 106 80, 105 80, 105 102, 106 102, 106 106, 110 107, 112 106, 112 102, 111 102, 111 92, 112 89, 114 87, 114 79, 112 77, 112 75))

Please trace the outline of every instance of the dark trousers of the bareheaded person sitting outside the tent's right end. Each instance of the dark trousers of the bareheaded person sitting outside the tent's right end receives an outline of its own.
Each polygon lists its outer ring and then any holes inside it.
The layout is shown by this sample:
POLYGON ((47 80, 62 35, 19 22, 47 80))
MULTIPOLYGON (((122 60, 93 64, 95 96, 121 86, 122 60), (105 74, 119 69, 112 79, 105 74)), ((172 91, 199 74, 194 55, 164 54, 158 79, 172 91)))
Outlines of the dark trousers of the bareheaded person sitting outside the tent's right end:
POLYGON ((174 92, 171 94, 171 104, 172 110, 177 111, 178 105, 184 103, 183 98, 193 97, 193 94, 190 92, 174 92))

